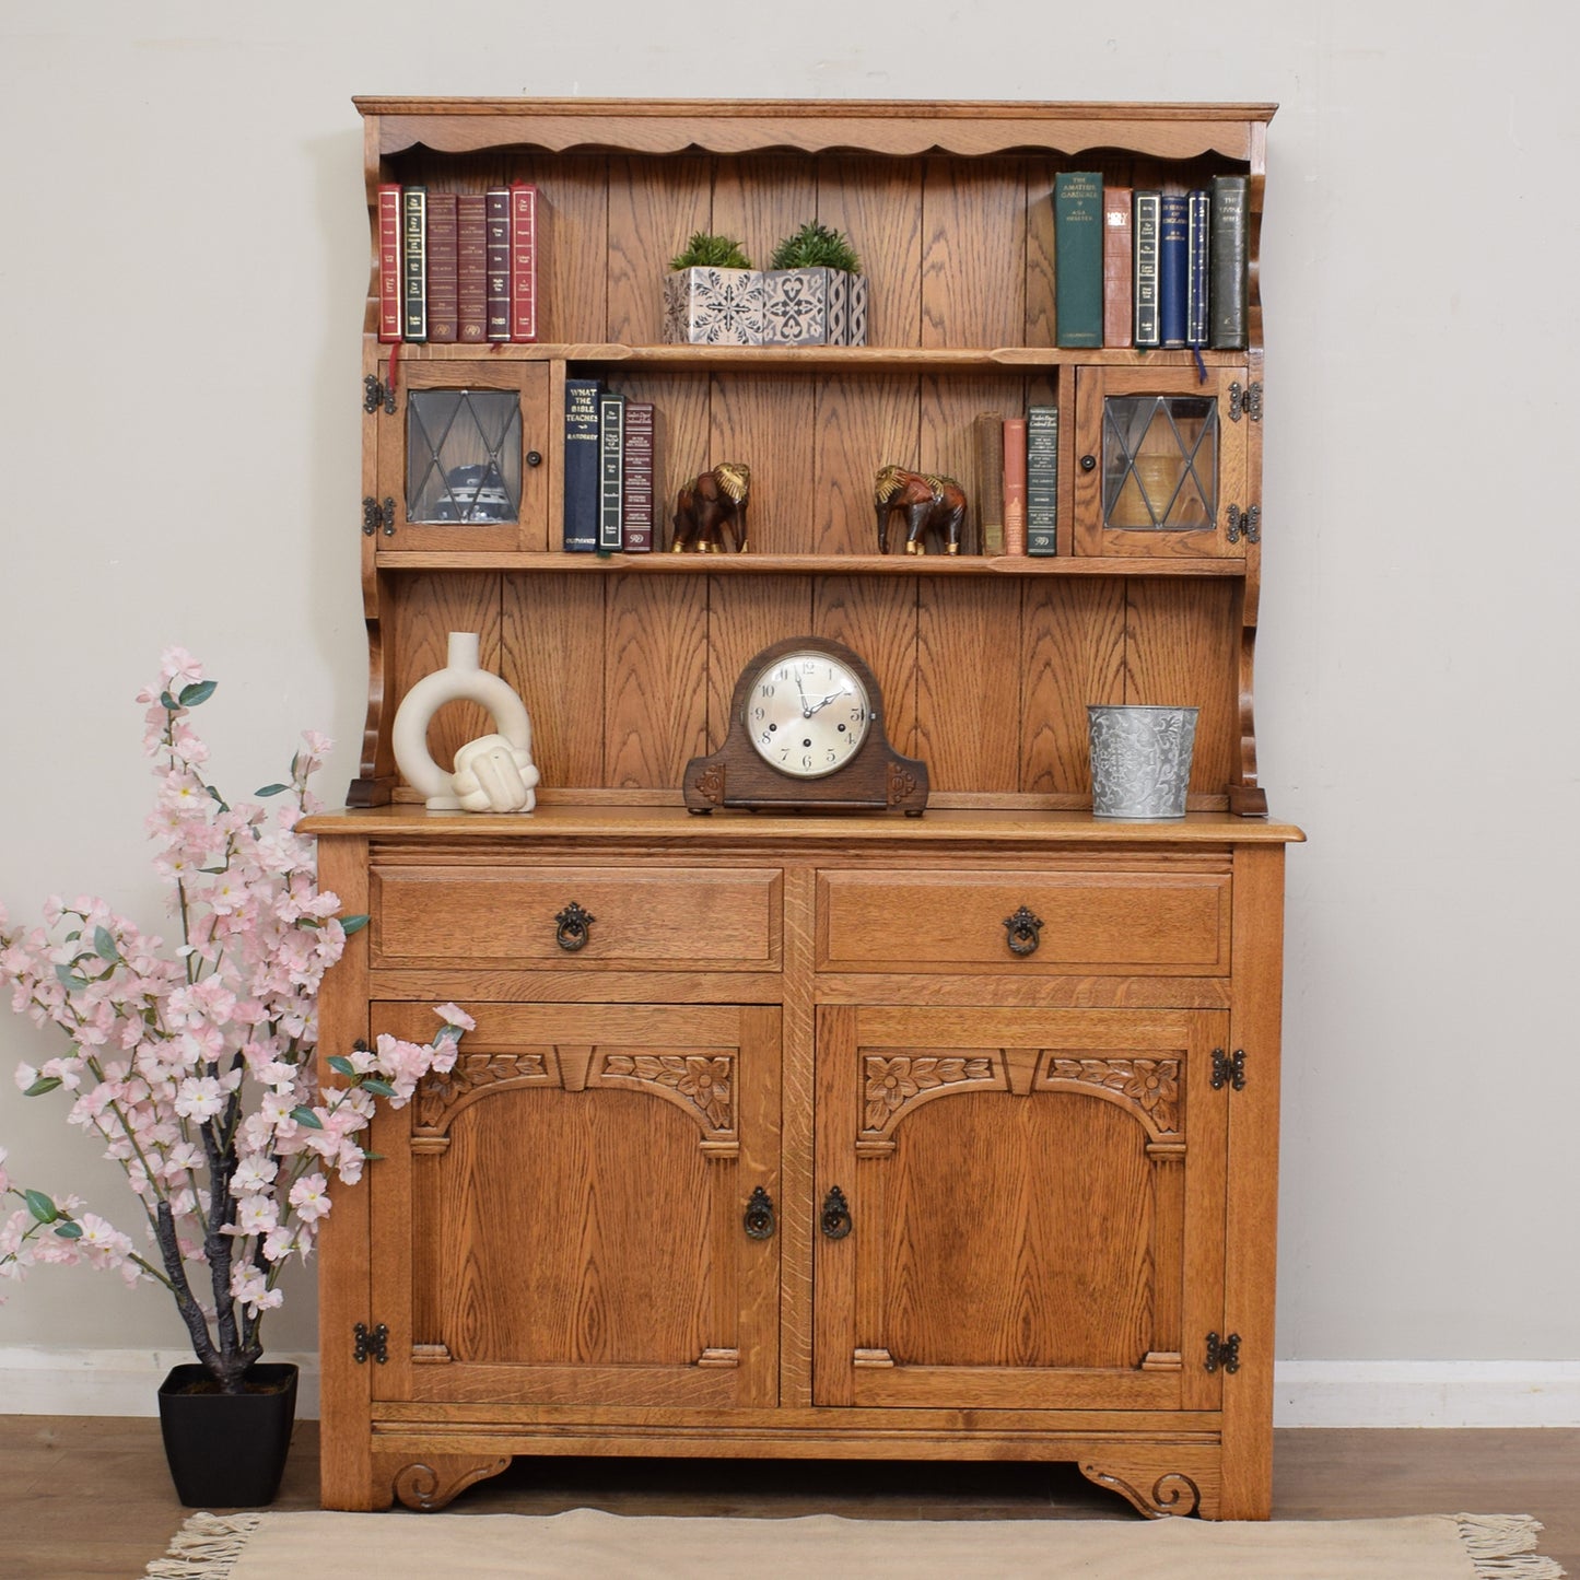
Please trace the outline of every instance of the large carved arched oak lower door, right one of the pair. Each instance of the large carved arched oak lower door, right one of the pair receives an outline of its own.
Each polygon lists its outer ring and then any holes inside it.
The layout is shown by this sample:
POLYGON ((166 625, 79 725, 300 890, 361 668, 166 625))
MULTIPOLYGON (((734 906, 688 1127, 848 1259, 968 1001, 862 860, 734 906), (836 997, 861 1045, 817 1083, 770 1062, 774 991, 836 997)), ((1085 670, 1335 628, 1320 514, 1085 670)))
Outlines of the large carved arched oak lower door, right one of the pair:
POLYGON ((1220 1011, 820 1010, 815 1401, 1215 1408, 1226 1030, 1220 1011))

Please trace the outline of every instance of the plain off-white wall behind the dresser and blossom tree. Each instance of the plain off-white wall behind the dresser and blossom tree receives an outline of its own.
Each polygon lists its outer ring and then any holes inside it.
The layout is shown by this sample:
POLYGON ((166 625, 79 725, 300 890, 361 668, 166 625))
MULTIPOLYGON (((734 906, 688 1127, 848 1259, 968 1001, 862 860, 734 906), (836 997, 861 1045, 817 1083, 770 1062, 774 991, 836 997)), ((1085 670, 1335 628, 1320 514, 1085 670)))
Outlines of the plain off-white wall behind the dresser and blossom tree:
MULTIPOLYGON (((351 95, 1277 100, 1258 717, 1291 852, 1280 1354, 1580 1357, 1575 25, 1327 0, 1112 8, 0 0, 0 901, 152 921, 136 687, 202 656, 223 784, 354 771, 351 95)), ((118 1177, 24 1101, 13 1172, 118 1177)), ((311 1286, 272 1318, 314 1346, 311 1286)), ((179 1348, 46 1269, 3 1346, 179 1348)), ((1572 1375, 1572 1368, 1571 1368, 1572 1375)), ((5 1405, 0 1401, 0 1409, 5 1405)))

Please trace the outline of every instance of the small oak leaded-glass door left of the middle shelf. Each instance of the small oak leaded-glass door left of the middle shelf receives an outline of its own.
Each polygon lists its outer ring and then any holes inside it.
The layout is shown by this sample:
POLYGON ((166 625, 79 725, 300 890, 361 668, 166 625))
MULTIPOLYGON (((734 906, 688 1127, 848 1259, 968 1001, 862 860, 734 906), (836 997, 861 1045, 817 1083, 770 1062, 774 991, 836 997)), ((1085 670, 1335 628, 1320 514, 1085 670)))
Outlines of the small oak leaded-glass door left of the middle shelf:
POLYGON ((548 363, 412 357, 395 379, 395 411, 376 416, 378 547, 547 548, 548 363))

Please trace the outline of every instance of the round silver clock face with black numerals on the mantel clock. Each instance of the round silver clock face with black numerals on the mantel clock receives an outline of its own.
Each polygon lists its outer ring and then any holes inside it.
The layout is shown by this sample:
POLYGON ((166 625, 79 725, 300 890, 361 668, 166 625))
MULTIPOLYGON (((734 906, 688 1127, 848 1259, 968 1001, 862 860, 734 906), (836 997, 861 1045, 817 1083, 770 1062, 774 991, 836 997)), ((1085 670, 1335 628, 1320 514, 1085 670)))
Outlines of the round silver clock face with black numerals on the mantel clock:
POLYGON ((757 672, 741 722, 769 768, 792 779, 822 779, 861 749, 872 725, 872 703, 839 659, 787 653, 757 672))

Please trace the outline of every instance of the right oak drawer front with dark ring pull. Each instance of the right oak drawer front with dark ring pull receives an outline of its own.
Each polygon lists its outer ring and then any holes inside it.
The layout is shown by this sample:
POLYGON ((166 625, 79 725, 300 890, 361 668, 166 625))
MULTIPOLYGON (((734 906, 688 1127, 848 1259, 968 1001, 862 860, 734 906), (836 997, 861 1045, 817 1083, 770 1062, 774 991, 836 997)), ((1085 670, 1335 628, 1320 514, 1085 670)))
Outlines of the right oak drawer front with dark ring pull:
POLYGON ((1229 875, 825 871, 817 964, 825 972, 1226 976, 1229 875), (1027 915, 1011 924, 1022 908, 1027 915))

